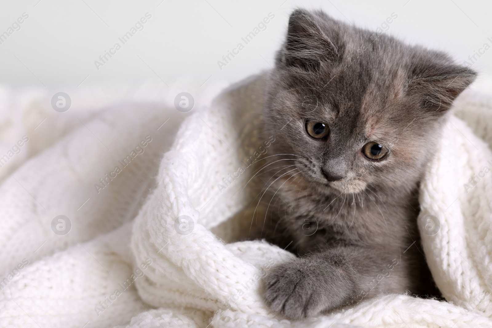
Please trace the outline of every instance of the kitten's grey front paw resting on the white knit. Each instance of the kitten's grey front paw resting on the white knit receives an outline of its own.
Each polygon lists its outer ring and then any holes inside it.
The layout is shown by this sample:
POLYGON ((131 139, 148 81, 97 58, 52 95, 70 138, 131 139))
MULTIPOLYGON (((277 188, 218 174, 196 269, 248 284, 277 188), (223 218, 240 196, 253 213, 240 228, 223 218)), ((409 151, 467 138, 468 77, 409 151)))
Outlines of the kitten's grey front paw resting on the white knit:
POLYGON ((278 265, 263 279, 270 309, 290 319, 302 319, 330 307, 330 291, 320 273, 304 259, 278 265))

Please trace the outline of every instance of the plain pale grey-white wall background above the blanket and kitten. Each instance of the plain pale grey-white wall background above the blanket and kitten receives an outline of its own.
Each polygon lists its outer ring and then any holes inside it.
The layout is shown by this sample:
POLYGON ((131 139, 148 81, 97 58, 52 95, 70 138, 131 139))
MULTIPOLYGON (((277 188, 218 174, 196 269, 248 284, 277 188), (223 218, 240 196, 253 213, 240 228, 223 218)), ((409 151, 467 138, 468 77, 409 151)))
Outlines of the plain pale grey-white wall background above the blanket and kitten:
MULTIPOLYGON (((468 0, 28 0, 2 1, 0 33, 26 12, 29 18, 0 44, 0 84, 49 89, 101 81, 173 84, 236 81, 270 68, 292 8, 322 8, 345 22, 375 30, 392 13, 388 34, 467 60, 492 46, 492 1, 468 0), (146 12, 152 18, 103 67, 105 50, 146 12), (222 70, 217 65, 258 22, 275 18, 222 70)), ((244 44, 244 42, 243 42, 244 44)), ((478 57, 477 57, 478 58, 478 57)), ((492 49, 473 65, 492 75, 492 49)))

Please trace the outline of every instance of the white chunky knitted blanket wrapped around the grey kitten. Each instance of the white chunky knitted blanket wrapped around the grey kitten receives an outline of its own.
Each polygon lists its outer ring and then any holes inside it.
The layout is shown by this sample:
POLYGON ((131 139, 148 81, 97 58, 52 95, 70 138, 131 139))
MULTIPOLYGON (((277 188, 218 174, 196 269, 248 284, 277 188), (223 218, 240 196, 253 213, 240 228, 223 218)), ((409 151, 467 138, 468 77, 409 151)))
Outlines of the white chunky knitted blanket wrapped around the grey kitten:
POLYGON ((380 295, 297 322, 259 293, 293 255, 228 242, 254 197, 239 168, 275 142, 255 132, 261 76, 212 103, 216 87, 190 86, 190 114, 172 105, 181 89, 73 90, 66 113, 52 94, 1 90, 0 156, 29 141, 0 167, 0 327, 492 327, 489 89, 460 96, 421 184, 424 251, 448 301, 380 295), (138 104, 96 106, 115 100, 138 104), (58 215, 69 233, 55 233, 58 215))

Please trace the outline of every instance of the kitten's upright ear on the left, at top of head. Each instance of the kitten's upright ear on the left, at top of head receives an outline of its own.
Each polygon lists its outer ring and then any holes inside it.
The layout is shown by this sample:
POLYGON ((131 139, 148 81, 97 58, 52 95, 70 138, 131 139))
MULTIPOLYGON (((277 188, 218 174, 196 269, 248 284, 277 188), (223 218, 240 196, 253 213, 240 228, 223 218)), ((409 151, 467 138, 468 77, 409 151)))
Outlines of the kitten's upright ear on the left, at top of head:
POLYGON ((307 10, 292 12, 283 53, 287 66, 312 72, 319 70, 322 61, 338 59, 337 47, 323 31, 324 25, 322 19, 307 10))

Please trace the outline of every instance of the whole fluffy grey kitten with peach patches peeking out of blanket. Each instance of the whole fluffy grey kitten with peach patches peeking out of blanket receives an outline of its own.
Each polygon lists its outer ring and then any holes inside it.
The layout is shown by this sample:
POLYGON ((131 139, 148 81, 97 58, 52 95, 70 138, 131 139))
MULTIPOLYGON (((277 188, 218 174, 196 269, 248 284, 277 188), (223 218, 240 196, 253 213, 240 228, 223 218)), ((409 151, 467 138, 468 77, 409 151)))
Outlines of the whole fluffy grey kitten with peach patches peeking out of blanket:
POLYGON ((263 280, 270 308, 287 318, 381 292, 439 295, 421 251, 418 187, 476 73, 374 35, 297 9, 270 73, 265 130, 277 141, 254 237, 299 255, 263 280))

